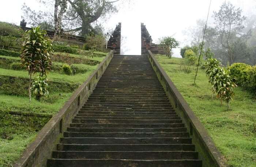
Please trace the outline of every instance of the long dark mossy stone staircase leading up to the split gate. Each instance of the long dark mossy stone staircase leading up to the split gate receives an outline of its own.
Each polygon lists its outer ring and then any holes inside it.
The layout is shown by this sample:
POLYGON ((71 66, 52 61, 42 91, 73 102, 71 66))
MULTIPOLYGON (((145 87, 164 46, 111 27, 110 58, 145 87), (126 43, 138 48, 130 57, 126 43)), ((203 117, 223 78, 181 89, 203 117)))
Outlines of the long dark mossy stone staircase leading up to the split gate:
POLYGON ((48 167, 202 167, 146 55, 115 55, 48 167))

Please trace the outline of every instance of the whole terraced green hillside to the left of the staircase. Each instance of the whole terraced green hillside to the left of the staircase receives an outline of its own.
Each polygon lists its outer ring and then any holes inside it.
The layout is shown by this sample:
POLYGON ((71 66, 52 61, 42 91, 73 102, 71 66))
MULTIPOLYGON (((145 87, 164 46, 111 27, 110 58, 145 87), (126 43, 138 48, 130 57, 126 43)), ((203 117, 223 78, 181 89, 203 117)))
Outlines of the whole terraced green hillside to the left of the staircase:
MULTIPOLYGON (((10 53, 2 51, 2 54, 10 53)), ((96 52, 97 57, 92 58, 79 54, 54 53, 52 71, 47 75, 49 97, 41 101, 32 97, 31 103, 27 92, 29 75, 20 66, 20 58, 17 56, 18 52, 0 55, 0 167, 11 167, 37 132, 90 76, 106 54, 96 52), (72 75, 63 73, 63 64, 71 65, 72 75)))

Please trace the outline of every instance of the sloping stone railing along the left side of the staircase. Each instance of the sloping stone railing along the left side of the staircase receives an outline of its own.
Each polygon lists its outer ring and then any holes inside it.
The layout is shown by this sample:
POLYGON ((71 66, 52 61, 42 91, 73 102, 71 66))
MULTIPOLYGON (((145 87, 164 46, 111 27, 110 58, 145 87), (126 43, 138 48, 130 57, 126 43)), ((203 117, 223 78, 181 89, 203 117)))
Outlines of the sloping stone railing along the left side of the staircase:
POLYGON ((52 151, 56 150, 60 137, 67 130, 74 115, 82 108, 93 92, 96 84, 113 58, 113 50, 99 64, 97 70, 73 93, 71 98, 60 109, 59 113, 53 116, 50 121, 37 134, 23 152, 14 167, 45 167, 47 159, 52 157, 52 151))

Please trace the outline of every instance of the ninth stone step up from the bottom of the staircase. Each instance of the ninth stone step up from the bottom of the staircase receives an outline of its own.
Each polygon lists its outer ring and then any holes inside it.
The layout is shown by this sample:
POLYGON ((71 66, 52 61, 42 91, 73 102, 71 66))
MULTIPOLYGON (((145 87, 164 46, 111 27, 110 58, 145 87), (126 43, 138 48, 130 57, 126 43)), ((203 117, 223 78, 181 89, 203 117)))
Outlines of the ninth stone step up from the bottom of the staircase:
POLYGON ((155 119, 181 119, 180 117, 147 117, 147 116, 144 116, 144 117, 138 117, 138 116, 127 116, 127 117, 116 117, 114 115, 109 115, 109 116, 93 116, 93 117, 90 117, 90 116, 75 116, 74 119, 133 119, 133 120, 142 120, 142 119, 146 119, 146 120, 155 120, 155 119))

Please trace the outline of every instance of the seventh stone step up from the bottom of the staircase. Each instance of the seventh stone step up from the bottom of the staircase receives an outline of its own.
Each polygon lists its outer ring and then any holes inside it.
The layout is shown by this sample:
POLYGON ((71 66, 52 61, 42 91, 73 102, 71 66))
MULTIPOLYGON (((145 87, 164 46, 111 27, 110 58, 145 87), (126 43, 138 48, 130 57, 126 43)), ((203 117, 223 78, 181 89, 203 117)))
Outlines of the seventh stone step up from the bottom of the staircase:
POLYGON ((183 123, 176 124, 76 124, 71 123, 70 127, 78 128, 184 128, 183 123))

